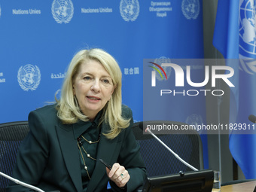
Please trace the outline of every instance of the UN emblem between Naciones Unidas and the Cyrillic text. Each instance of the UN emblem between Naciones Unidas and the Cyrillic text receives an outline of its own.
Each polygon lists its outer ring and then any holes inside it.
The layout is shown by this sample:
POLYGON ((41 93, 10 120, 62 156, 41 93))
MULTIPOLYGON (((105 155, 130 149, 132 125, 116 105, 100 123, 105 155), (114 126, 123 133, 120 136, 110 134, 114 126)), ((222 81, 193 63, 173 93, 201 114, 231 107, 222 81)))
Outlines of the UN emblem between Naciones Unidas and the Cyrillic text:
POLYGON ((138 0, 121 0, 120 14, 125 21, 135 21, 139 16, 139 2, 138 0))

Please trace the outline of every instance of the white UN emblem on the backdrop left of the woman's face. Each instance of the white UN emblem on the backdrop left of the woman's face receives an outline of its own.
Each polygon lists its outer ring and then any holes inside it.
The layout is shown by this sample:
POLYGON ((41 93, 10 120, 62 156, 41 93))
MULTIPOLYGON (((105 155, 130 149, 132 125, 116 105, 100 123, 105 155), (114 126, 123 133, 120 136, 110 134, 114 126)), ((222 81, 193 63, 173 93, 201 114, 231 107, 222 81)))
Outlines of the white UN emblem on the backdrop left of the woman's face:
POLYGON ((21 66, 18 71, 18 82, 23 90, 36 90, 41 81, 41 74, 38 66, 27 64, 21 66))

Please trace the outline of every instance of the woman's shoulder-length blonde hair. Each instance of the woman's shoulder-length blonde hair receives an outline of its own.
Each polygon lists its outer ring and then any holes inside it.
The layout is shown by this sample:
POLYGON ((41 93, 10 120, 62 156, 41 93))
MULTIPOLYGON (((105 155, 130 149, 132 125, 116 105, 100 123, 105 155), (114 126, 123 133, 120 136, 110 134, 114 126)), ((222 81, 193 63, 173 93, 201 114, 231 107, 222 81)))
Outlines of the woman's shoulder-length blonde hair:
POLYGON ((104 66, 105 70, 111 76, 114 84, 114 92, 111 99, 107 102, 105 107, 102 109, 102 117, 100 123, 105 121, 109 124, 111 130, 105 136, 108 139, 114 139, 120 131, 130 125, 130 119, 124 119, 121 116, 122 113, 122 73, 117 62, 105 50, 101 49, 90 49, 80 50, 75 54, 72 61, 69 64, 69 69, 66 72, 66 78, 62 85, 60 99, 57 100, 57 115, 62 123, 71 124, 76 123, 78 120, 88 121, 88 117, 81 112, 77 99, 73 94, 73 84, 76 75, 80 70, 81 64, 89 60, 96 60, 104 66))

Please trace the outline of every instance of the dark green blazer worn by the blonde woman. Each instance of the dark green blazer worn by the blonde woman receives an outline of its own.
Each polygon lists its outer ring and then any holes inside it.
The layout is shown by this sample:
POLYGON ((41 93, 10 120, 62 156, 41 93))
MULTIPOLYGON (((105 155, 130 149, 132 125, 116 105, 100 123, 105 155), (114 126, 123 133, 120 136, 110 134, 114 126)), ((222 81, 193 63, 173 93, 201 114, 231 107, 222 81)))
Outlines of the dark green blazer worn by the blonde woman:
MULTIPOLYGON (((122 108, 125 118, 132 118, 128 107, 122 108)), ((81 161, 79 157, 75 129, 81 129, 83 121, 72 125, 62 124, 56 116, 55 105, 47 105, 29 114, 30 132, 17 155, 14 178, 35 185, 42 190, 83 191, 81 181, 81 161)), ((107 163, 120 163, 130 174, 127 191, 133 191, 143 184, 146 178, 145 164, 139 153, 139 144, 130 126, 116 138, 107 139, 103 134, 99 141, 97 159, 107 163)), ((109 126, 102 123, 102 133, 109 126)), ((105 166, 97 160, 87 191, 105 191, 109 181, 105 166)), ((120 190, 114 182, 111 187, 120 190)), ((26 187, 11 182, 8 191, 29 191, 26 187)))

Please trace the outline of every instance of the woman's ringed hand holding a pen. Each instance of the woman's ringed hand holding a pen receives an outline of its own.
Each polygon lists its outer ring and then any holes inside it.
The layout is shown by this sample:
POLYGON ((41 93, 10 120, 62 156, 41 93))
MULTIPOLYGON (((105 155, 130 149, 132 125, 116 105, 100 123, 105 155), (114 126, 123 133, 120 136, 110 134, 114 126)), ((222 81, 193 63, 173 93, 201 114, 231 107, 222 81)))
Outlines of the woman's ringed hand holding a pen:
POLYGON ((111 181, 114 181, 118 187, 124 187, 130 179, 129 172, 124 168, 124 166, 120 166, 119 163, 114 163, 112 169, 109 170, 106 168, 106 171, 108 178, 110 178, 111 181))

